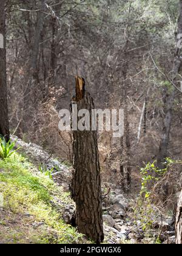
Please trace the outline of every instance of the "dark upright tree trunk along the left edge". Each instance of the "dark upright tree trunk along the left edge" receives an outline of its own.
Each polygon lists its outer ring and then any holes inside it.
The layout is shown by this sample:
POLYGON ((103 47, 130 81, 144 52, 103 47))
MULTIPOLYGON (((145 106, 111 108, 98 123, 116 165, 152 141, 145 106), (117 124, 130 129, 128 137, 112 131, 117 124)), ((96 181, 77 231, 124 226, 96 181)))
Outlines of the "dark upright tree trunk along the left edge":
POLYGON ((9 140, 8 107, 7 107, 7 80, 6 80, 6 55, 5 55, 5 1, 0 5, 0 34, 3 48, 0 48, 0 135, 9 140))

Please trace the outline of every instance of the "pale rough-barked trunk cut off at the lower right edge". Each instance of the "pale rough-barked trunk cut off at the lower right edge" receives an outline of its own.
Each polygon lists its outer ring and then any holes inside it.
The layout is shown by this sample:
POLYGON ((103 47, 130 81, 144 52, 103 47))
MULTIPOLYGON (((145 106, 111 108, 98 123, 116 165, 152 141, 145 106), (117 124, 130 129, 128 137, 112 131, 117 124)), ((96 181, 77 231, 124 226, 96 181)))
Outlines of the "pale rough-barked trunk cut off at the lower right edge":
POLYGON ((176 230, 176 244, 182 244, 182 191, 180 194, 180 199, 177 207, 175 230, 176 230))

